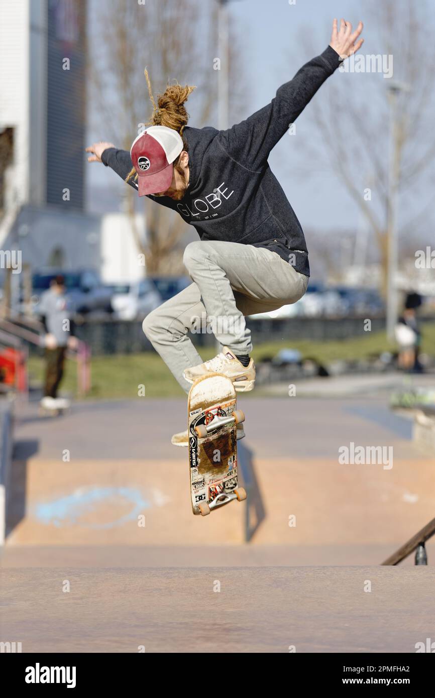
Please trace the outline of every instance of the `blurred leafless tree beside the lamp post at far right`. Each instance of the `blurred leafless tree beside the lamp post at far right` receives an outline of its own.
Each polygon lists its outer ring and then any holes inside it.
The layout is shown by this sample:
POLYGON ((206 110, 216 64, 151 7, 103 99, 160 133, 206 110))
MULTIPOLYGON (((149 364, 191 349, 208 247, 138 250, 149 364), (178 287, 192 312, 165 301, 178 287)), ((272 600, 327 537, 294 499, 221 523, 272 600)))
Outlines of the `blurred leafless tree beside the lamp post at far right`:
MULTIPOLYGON (((346 187, 374 234, 384 276, 391 206, 388 88, 393 81, 402 88, 397 97, 392 156, 398 173, 399 240, 415 237, 418 226, 425 226, 423 235, 430 229, 434 195, 428 182, 434 181, 435 154, 431 128, 435 48, 427 22, 430 15, 425 0, 364 3, 361 19, 366 40, 355 57, 355 73, 340 75, 320 90, 304 115, 309 121, 304 131, 312 129, 314 138, 297 144, 304 160, 301 172, 309 174, 313 167, 333 170, 346 187), (382 59, 384 68, 387 66, 388 57, 392 57, 393 75, 386 78, 379 67, 382 59), (357 72, 357 61, 364 61, 365 70, 357 72)), ((359 19, 355 17, 355 24, 359 19)), ((306 47, 314 55, 313 47, 306 47)))

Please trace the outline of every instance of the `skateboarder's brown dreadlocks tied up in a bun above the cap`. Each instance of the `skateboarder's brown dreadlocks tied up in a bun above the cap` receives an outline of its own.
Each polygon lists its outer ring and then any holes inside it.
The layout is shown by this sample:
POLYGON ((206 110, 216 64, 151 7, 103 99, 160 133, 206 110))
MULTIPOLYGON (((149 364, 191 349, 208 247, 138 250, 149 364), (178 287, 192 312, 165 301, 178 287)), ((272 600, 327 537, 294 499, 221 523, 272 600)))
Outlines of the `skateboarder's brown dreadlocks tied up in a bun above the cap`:
MULTIPOLYGON (((184 85, 180 84, 166 86, 163 94, 157 95, 157 104, 154 101, 154 96, 151 89, 151 81, 149 80, 148 70, 145 68, 145 79, 148 85, 149 99, 153 105, 152 117, 145 126, 168 126, 168 128, 173 128, 177 131, 179 135, 183 138, 184 127, 189 121, 189 114, 186 112, 186 107, 184 107, 184 102, 187 101, 189 94, 195 89, 195 85, 184 85)), ((187 150, 186 139, 183 138, 184 150, 187 150)), ((126 177, 126 181, 130 181, 131 177, 137 179, 138 173, 135 168, 132 168, 126 177)))

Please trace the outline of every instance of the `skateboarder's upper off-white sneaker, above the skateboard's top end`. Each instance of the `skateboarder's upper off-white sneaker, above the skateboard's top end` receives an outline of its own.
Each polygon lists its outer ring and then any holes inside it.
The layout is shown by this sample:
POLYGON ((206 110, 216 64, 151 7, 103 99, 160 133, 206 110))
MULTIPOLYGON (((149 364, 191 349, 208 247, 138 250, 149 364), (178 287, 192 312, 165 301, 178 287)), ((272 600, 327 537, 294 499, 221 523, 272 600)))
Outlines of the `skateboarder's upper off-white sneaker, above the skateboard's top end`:
POLYGON ((247 366, 244 366, 228 347, 223 347, 223 350, 214 359, 186 369, 183 376, 188 383, 194 383, 198 378, 207 376, 208 373, 223 373, 233 382, 237 392, 252 390, 256 382, 256 367, 253 359, 247 366))

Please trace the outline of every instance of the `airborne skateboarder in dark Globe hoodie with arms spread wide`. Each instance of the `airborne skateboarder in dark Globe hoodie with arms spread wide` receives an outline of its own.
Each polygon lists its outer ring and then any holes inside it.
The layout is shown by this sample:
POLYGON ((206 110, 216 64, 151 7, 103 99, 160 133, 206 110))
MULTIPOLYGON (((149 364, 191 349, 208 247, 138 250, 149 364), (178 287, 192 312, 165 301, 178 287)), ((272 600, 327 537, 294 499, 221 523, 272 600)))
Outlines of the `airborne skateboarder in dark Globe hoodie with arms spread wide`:
MULTIPOLYGON (((344 58, 362 45, 349 22, 332 25, 330 45, 302 66, 272 102, 226 131, 186 126, 184 102, 193 87, 170 85, 154 103, 152 126, 131 151, 99 142, 89 162, 102 162, 139 196, 177 211, 200 241, 184 252, 193 283, 149 313, 143 329, 186 392, 210 371, 228 376, 238 391, 253 389, 251 333, 245 315, 295 303, 307 290, 309 263, 301 225, 267 158, 344 58), (221 351, 202 363, 187 336, 209 322, 221 351)), ((172 443, 186 445, 187 433, 172 443)))

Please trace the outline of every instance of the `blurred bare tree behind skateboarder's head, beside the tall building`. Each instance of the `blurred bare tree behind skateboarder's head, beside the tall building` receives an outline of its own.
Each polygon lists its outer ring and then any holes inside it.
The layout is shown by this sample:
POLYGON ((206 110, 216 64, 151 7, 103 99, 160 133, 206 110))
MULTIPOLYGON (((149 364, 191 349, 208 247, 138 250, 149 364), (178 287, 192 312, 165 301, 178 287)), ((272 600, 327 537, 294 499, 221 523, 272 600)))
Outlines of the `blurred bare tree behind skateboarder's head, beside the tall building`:
MULTIPOLYGON (((94 6, 94 9, 96 7, 94 6)), ((106 0, 96 17, 98 31, 90 51, 89 76, 96 119, 104 138, 130 149, 131 142, 152 114, 144 68, 152 80, 154 98, 173 79, 195 84, 186 104, 195 112, 195 126, 216 114, 216 0, 145 0, 143 4, 106 0)), ((235 45, 235 43, 233 43, 235 45)), ((233 70, 233 89, 242 99, 239 57, 233 70)), ((235 105, 233 105, 235 106, 235 105)), ((189 226, 173 211, 144 199, 147 235, 134 216, 138 195, 126 188, 126 207, 138 251, 145 255, 147 272, 182 271, 180 238, 189 226)))

